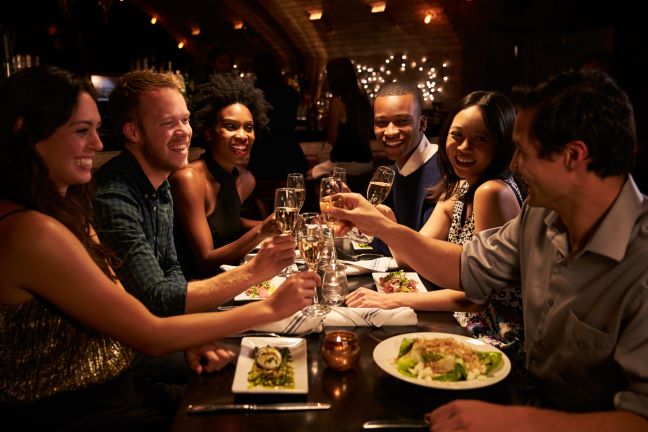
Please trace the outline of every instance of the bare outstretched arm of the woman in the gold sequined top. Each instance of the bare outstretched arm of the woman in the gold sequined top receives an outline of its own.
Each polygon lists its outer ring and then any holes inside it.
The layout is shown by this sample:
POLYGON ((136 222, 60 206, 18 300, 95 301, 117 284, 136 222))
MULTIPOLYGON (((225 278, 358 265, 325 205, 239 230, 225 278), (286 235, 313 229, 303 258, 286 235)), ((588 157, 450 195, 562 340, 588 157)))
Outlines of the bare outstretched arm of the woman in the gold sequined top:
POLYGON ((35 212, 20 218, 7 243, 12 253, 2 257, 3 268, 12 269, 6 277, 15 290, 45 299, 70 318, 149 355, 208 344, 285 318, 312 302, 319 281, 315 273, 302 272, 263 301, 227 312, 160 318, 111 281, 58 221, 35 212))

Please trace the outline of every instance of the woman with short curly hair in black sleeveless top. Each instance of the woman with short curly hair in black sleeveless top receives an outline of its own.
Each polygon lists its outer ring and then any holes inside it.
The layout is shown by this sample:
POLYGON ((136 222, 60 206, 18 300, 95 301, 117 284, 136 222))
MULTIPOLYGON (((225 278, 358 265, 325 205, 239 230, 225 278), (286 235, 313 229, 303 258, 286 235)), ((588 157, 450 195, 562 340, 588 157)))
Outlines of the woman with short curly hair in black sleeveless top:
POLYGON ((268 122, 268 108, 252 80, 234 74, 215 75, 197 88, 191 126, 206 152, 170 179, 176 247, 188 279, 238 264, 260 241, 279 233, 272 216, 262 222, 241 217, 241 203, 256 185, 245 165, 255 132, 268 122))

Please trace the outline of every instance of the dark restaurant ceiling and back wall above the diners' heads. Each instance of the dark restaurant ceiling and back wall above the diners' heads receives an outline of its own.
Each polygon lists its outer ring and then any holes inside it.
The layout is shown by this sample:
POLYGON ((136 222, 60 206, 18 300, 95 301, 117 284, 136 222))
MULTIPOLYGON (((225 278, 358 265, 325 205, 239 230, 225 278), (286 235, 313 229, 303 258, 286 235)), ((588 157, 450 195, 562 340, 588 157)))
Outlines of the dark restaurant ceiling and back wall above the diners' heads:
MULTIPOLYGON (((3 2, 3 76, 36 62, 107 77, 136 68, 171 69, 183 75, 190 93, 205 74, 210 47, 226 48, 242 73, 250 72, 258 52, 270 51, 301 92, 301 141, 316 141, 321 125, 314 117, 321 115, 317 104, 326 97, 323 69, 334 57, 348 56, 372 70, 359 75, 369 84, 377 82, 372 74, 381 79, 390 67, 394 76, 421 82, 434 68, 436 81, 427 81, 434 101, 424 107, 428 136, 437 134, 445 110, 470 91, 507 92, 566 68, 599 67, 619 81, 634 104, 642 148, 635 176, 645 185, 639 168, 645 165, 647 96, 636 5, 585 0, 3 2), (392 56, 406 58, 399 66, 392 56)), ((110 139, 105 145, 114 146, 110 139)))

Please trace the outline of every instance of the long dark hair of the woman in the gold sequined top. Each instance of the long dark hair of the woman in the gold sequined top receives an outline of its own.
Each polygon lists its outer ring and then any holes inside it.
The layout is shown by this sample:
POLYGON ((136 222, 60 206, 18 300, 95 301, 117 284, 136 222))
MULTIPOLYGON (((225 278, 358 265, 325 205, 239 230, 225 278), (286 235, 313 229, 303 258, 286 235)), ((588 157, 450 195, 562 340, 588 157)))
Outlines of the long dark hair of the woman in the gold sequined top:
POLYGON ((89 80, 51 66, 24 69, 0 82, 0 197, 49 215, 65 225, 111 279, 114 254, 95 242, 94 184, 70 185, 61 196, 35 146, 74 114, 81 93, 96 100, 89 80))

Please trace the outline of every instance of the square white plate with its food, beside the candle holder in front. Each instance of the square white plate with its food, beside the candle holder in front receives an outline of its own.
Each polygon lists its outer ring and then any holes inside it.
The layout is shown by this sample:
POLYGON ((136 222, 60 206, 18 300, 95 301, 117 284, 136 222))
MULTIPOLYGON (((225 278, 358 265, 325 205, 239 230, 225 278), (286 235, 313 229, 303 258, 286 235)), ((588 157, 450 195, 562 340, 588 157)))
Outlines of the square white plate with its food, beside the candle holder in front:
POLYGON ((308 393, 306 340, 244 337, 233 393, 308 393))

